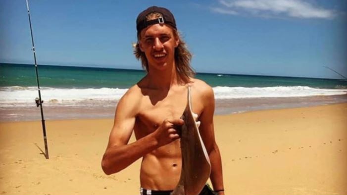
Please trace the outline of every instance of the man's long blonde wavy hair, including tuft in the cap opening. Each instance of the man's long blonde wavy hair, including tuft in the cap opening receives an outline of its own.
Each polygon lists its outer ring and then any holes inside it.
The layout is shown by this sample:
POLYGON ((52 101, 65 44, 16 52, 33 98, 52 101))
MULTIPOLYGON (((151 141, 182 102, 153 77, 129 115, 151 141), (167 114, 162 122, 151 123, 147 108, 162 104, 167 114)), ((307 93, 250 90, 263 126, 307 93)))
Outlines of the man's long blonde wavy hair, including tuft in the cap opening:
MULTIPOLYGON (((149 15, 146 16, 147 21, 157 19, 158 17, 162 16, 161 13, 158 12, 152 12, 149 15)), ((169 25, 168 25, 169 26, 169 25)), ((184 82, 184 83, 190 83, 190 77, 194 77, 195 71, 190 66, 191 60, 192 60, 192 54, 188 50, 187 44, 183 41, 181 38, 179 32, 172 28, 173 34, 176 39, 179 40, 178 46, 175 48, 175 64, 176 64, 176 72, 177 72, 177 79, 178 81, 184 82)), ((149 72, 149 64, 147 57, 145 55, 145 52, 141 51, 139 43, 141 40, 141 33, 138 34, 138 41, 136 45, 134 45, 134 54, 135 57, 139 60, 141 60, 142 67, 149 72)))

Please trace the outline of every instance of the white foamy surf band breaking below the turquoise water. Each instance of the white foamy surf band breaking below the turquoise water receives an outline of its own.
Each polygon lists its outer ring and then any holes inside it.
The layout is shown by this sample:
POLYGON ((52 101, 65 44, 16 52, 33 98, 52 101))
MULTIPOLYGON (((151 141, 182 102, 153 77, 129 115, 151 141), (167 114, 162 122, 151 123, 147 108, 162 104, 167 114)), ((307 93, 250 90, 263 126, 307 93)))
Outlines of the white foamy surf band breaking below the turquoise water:
MULTIPOLYGON (((128 89, 99 88, 99 89, 58 89, 41 88, 41 96, 45 106, 85 105, 99 106, 100 100, 117 101, 128 89)), ((214 87, 216 99, 233 98, 285 98, 306 96, 333 96, 347 94, 347 89, 316 89, 304 86, 294 87, 214 87)), ((36 87, 1 87, 0 107, 33 105, 38 97, 36 87)))

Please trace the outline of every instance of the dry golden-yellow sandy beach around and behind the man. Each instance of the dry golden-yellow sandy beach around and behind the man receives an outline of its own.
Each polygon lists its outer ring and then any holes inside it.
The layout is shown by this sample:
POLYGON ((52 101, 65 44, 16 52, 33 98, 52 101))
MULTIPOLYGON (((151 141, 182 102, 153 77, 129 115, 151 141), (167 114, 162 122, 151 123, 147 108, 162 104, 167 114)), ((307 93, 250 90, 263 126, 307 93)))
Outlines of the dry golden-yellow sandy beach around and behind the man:
MULTIPOLYGON (((227 195, 346 195, 347 103, 217 115, 227 195)), ((113 119, 0 122, 1 195, 138 195, 141 159, 106 176, 113 119)), ((134 141, 132 138, 131 142, 134 141)))

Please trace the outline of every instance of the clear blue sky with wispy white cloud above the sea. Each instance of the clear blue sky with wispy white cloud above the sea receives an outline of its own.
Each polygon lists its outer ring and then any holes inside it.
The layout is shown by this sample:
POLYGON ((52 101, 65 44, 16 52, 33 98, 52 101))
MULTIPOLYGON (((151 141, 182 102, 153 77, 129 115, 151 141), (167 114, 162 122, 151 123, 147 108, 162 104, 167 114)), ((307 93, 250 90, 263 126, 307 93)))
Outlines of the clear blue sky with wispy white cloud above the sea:
MULTIPOLYGON (((39 64, 141 69, 135 20, 169 8, 198 72, 347 76, 346 0, 30 0, 39 64)), ((33 63, 25 0, 0 0, 0 62, 33 63)))

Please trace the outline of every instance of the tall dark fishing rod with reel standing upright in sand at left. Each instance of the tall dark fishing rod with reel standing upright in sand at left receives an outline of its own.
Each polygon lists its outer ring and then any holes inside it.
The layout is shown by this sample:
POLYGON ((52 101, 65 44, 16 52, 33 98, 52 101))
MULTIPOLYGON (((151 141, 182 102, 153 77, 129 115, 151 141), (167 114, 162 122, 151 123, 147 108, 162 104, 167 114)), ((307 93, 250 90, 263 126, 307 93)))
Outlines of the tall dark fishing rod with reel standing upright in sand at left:
POLYGON ((39 92, 39 98, 35 98, 35 103, 36 103, 36 107, 40 106, 41 109, 41 122, 42 122, 42 130, 44 133, 44 141, 45 141, 45 157, 46 159, 49 159, 49 155, 48 155, 48 145, 47 145, 47 135, 46 135, 46 125, 45 125, 45 118, 44 118, 44 110, 42 108, 42 103, 44 102, 41 98, 41 91, 40 91, 40 82, 39 82, 39 73, 37 70, 37 63, 36 63, 36 53, 35 53, 35 46, 34 46, 34 38, 33 38, 33 30, 31 27, 31 19, 30 19, 30 10, 29 10, 29 3, 28 0, 27 1, 27 10, 28 10, 28 16, 29 16, 29 25, 30 25, 30 35, 31 35, 31 44, 33 45, 33 53, 34 53, 34 61, 35 61, 35 71, 36 71, 36 81, 37 81, 37 88, 38 88, 38 92, 39 92))

